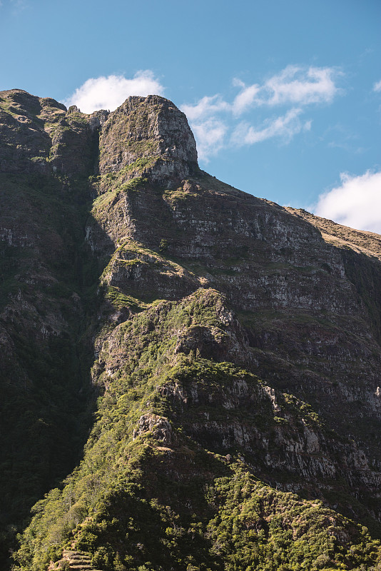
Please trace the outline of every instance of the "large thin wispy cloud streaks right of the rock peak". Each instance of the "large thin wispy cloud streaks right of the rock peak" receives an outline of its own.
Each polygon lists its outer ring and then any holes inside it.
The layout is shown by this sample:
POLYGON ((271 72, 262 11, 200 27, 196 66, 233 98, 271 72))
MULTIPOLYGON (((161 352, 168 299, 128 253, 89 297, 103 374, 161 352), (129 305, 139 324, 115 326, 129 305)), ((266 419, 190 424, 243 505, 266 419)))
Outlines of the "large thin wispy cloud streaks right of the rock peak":
POLYGON ((195 131, 200 159, 207 161, 225 146, 253 145, 273 137, 289 142, 300 131, 311 128, 310 119, 302 121, 300 118, 305 108, 331 103, 340 93, 336 85, 340 75, 341 72, 333 67, 287 66, 263 84, 246 85, 240 79, 233 79, 233 86, 239 93, 231 102, 217 94, 205 96, 193 105, 183 105, 182 110, 195 131), (259 126, 240 120, 245 113, 253 113, 255 108, 261 108, 263 112, 266 107, 276 106, 283 107, 283 113, 266 118, 259 126), (217 125, 219 128, 215 127, 217 125), (209 132, 210 129, 213 132, 209 132), (230 136, 228 131, 231 131, 230 136))

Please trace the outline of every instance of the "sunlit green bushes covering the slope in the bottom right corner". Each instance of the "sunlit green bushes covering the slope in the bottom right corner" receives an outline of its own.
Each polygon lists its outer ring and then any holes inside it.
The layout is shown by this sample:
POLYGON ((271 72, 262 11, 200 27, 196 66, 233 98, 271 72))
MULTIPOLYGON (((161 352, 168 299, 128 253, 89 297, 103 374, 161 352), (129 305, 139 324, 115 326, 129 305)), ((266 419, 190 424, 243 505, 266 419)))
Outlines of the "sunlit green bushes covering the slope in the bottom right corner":
POLYGON ((208 523, 212 549, 226 571, 370 570, 379 561, 380 542, 370 540, 366 528, 318 500, 275 492, 242 469, 233 479, 216 480, 209 494, 218 510, 208 523))

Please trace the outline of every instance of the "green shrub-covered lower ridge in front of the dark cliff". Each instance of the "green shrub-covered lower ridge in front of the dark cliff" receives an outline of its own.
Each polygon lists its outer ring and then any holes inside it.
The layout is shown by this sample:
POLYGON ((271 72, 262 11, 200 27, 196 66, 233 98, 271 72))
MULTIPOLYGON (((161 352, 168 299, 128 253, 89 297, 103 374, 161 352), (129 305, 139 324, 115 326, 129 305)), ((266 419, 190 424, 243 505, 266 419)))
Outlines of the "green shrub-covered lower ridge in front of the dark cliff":
POLYGON ((93 377, 106 390, 85 456, 63 489, 34 507, 19 569, 46 570, 72 544, 104 571, 376 568, 380 542, 366 528, 321 501, 264 485, 237 460, 237 443, 227 461, 198 440, 194 426, 205 413, 221 426, 240 420, 260 428, 263 418, 267 438, 279 423, 295 431, 302 419, 319 429, 315 413, 295 398, 278 412, 288 420, 275 415, 255 375, 192 350, 176 353, 173 331, 184 325, 213 330, 216 343, 225 338, 223 303, 213 290, 163 301, 133 315, 114 331, 112 346, 103 345, 93 377), (236 383, 249 392, 227 409, 236 383), (143 418, 164 419, 167 432, 158 420, 150 430, 143 418))

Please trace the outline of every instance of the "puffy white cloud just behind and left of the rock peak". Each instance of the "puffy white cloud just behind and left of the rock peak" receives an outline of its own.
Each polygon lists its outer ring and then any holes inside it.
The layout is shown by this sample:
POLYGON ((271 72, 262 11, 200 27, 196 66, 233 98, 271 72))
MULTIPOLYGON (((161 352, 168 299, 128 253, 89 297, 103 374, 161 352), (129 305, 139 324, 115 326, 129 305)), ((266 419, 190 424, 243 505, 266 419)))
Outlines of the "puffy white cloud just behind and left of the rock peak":
POLYGON ((162 95, 163 86, 150 70, 138 71, 133 79, 124 76, 91 78, 64 101, 66 106, 76 105, 83 113, 97 109, 113 111, 130 95, 162 95))

